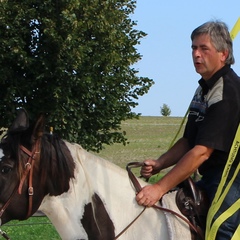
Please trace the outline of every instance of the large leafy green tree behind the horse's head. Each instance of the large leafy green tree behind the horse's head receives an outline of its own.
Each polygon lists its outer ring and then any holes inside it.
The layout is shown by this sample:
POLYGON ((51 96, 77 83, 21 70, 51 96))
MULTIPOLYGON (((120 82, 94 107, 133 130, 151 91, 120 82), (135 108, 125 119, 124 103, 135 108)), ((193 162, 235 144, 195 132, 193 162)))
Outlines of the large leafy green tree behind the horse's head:
POLYGON ((146 36, 130 19, 133 0, 0 3, 0 126, 25 108, 88 150, 126 143, 120 123, 137 118, 154 83, 137 76, 136 45, 146 36))

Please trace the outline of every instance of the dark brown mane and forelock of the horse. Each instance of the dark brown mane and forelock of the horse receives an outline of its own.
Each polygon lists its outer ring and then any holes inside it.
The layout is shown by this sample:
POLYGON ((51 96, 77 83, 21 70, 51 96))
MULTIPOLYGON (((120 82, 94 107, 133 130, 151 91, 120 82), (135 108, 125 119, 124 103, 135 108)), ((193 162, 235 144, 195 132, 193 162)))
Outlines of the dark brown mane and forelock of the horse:
MULTIPOLYGON (((22 161, 20 145, 30 151, 32 148, 31 130, 29 130, 19 133, 8 132, 1 140, 1 146, 16 161, 19 179, 26 163, 22 161)), ((74 168, 73 158, 65 142, 57 135, 44 133, 41 138, 40 162, 37 171, 41 186, 47 185, 45 194, 56 196, 68 191, 70 180, 74 178, 74 168)))

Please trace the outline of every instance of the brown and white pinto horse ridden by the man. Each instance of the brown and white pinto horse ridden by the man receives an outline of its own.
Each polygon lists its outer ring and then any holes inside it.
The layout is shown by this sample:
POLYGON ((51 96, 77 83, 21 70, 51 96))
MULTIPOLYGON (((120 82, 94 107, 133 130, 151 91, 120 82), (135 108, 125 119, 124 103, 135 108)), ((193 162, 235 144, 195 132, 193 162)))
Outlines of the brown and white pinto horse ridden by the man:
POLYGON ((124 169, 45 132, 43 115, 29 122, 18 110, 0 143, 1 224, 40 210, 63 240, 191 239, 189 226, 175 216, 143 211, 124 169), (170 229, 173 219, 178 223, 170 229))

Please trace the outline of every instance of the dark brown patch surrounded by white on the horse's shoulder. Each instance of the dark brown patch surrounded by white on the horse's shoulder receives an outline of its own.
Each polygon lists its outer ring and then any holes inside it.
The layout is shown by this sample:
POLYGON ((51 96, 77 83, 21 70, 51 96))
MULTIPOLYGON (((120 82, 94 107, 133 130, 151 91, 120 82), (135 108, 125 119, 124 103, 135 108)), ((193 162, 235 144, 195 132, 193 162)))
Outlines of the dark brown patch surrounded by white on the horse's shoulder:
POLYGON ((113 240, 114 225, 110 219, 101 198, 95 193, 92 203, 85 206, 81 223, 91 240, 113 240), (93 203, 93 205, 92 205, 93 203), (94 208, 94 210, 93 210, 94 208))

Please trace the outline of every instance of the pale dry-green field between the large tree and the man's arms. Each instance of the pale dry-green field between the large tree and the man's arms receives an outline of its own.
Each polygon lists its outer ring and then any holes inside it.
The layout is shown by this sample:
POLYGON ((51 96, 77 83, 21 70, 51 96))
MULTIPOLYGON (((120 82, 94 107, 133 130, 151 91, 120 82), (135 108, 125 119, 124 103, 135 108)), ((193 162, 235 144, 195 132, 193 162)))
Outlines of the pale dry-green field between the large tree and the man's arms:
MULTIPOLYGON (((98 155, 122 168, 128 162, 158 158, 170 146, 182 123, 181 117, 140 117, 122 123, 128 144, 104 146, 98 155)), ((178 136, 181 136, 183 129, 178 136)))

